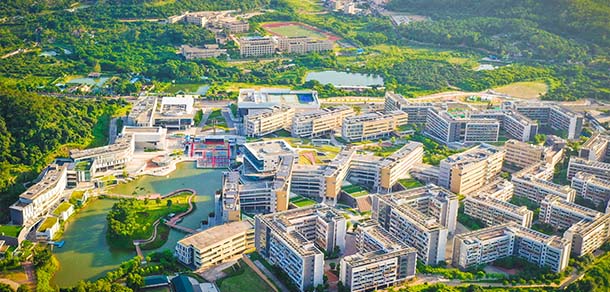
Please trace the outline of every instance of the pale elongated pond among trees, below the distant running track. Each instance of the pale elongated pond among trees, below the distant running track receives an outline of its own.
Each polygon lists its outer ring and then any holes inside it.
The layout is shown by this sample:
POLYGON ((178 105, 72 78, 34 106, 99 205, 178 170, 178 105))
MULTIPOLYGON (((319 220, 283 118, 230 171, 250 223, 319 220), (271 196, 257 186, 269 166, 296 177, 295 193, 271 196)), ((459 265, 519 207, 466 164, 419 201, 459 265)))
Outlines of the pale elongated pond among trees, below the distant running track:
POLYGON ((305 81, 310 80, 316 80, 322 84, 332 84, 335 87, 383 86, 383 78, 378 75, 339 71, 309 72, 305 76, 305 81))

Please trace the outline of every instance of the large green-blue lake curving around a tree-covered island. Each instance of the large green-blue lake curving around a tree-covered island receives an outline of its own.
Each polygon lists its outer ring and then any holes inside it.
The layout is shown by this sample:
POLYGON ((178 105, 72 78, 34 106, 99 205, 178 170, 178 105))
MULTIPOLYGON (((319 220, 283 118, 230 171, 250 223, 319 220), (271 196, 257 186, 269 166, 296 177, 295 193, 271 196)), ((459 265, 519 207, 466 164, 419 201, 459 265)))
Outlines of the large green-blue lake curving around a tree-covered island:
MULTIPOLYGON (((207 219, 214 210, 214 192, 221 187, 222 170, 197 169, 195 162, 183 162, 167 177, 143 176, 126 184, 121 184, 109 192, 131 195, 147 193, 167 194, 179 188, 197 191, 195 211, 186 216, 182 226, 196 229, 201 220, 207 219)), ((66 244, 53 252, 60 269, 53 281, 60 287, 75 285, 79 280, 93 280, 135 254, 134 250, 110 249, 106 243, 106 214, 115 203, 113 200, 97 200, 89 203, 72 218, 62 237, 66 244)), ((173 250, 184 233, 170 231, 167 242, 158 250, 173 250)), ((152 251, 144 251, 149 253, 152 251)))

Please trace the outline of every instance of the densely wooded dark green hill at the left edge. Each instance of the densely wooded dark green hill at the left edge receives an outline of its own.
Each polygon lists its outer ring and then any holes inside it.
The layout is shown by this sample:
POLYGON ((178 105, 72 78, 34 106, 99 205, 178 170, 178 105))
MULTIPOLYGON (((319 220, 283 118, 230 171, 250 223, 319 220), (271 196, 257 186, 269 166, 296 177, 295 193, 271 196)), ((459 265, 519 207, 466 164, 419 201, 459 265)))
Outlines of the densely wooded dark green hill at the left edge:
MULTIPOLYGON (((62 146, 85 147, 94 141, 100 117, 121 107, 118 100, 44 97, 0 88, 0 208, 6 208, 62 146)), ((62 153, 63 152, 63 153, 62 153)), ((0 212, 2 217, 8 212, 0 212)), ((4 219, 4 218, 0 218, 4 219)))

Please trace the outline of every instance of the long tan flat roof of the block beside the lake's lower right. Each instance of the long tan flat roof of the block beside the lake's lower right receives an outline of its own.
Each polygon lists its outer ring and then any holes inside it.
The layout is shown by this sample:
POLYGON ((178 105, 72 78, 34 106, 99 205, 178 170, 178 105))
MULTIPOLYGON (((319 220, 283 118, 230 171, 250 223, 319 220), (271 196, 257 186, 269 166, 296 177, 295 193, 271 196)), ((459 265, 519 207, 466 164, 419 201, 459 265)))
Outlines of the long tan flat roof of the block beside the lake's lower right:
POLYGON ((178 243, 183 244, 185 246, 193 246, 198 249, 202 249, 208 246, 215 245, 227 238, 239 235, 253 228, 254 225, 247 220, 231 222, 219 226, 214 226, 199 233, 195 233, 191 236, 181 239, 180 241, 178 241, 178 243))

